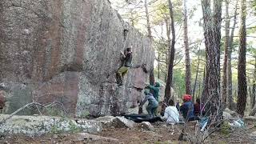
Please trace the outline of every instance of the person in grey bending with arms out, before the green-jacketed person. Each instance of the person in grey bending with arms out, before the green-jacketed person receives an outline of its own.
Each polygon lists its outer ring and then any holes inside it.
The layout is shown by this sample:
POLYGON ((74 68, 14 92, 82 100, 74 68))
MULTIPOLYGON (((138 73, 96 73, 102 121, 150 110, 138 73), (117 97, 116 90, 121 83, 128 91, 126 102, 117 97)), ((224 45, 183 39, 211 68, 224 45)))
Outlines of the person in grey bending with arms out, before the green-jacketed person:
POLYGON ((142 103, 139 106, 143 106, 146 101, 149 101, 148 106, 146 106, 146 111, 151 117, 154 117, 154 111, 158 108, 158 101, 154 98, 153 94, 150 93, 149 90, 144 90, 144 94, 146 95, 142 103))

